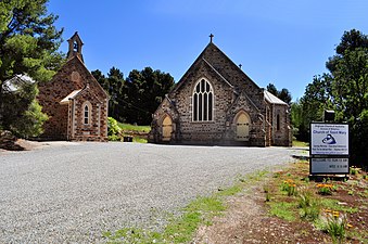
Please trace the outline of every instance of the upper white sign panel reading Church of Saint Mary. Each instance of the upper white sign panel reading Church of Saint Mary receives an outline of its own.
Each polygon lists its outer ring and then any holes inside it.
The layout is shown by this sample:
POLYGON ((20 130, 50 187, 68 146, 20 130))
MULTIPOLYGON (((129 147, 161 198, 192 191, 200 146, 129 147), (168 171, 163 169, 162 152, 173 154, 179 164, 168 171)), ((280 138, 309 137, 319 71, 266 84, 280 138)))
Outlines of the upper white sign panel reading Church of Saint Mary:
POLYGON ((348 155, 348 125, 310 124, 312 155, 348 155))

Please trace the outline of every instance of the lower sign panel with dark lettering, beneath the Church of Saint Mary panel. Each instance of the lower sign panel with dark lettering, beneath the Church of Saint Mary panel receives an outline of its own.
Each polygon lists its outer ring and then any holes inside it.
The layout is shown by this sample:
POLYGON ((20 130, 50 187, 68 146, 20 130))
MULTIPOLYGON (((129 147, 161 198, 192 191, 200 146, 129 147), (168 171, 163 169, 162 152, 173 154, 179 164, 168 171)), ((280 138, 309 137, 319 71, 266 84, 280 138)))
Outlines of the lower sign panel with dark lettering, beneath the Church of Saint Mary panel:
POLYGON ((348 174, 348 158, 310 158, 310 174, 348 174))

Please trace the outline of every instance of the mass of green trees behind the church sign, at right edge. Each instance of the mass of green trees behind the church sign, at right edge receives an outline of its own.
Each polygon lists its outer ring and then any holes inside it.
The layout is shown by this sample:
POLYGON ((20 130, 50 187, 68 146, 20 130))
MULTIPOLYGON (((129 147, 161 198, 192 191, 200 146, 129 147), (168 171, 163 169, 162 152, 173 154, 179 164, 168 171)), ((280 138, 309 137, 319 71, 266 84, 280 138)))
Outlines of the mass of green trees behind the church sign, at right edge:
POLYGON ((352 160, 367 166, 363 160, 368 158, 368 37, 355 29, 345 31, 335 51, 326 63, 329 73, 315 77, 297 104, 302 112, 295 112, 303 120, 299 132, 305 136, 306 125, 322 120, 323 110, 334 110, 335 120, 351 126, 352 160))

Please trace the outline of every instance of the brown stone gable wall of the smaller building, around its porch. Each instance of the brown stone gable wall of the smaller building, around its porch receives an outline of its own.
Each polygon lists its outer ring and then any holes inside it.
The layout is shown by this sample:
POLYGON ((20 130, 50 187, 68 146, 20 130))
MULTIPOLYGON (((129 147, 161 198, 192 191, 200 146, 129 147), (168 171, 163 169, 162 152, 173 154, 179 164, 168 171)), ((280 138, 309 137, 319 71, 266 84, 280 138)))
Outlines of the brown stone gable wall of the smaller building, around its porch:
MULTIPOLYGON (((96 136, 106 140, 107 137, 107 97, 93 76, 88 72, 79 57, 74 56, 55 74, 49 82, 39 84, 38 101, 42 106, 42 112, 48 114, 49 120, 45 123, 45 132, 41 138, 47 140, 69 140, 68 118, 72 116, 72 107, 60 102, 72 91, 84 89, 89 86, 89 90, 102 102, 101 105, 101 131, 96 136)), ((94 108, 93 113, 98 110, 94 108)), ((94 116, 94 115, 93 115, 94 116)), ((81 137, 84 138, 84 137, 81 137)), ((85 137, 90 140, 89 137, 85 137)))

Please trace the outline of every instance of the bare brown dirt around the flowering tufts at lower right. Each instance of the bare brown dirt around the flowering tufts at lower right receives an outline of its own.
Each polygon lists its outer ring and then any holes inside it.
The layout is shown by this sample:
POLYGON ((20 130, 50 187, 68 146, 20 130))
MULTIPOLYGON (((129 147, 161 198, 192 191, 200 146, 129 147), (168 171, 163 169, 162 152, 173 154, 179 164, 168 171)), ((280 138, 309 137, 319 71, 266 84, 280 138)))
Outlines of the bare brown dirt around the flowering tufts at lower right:
MULTIPOLYGON (((299 167, 294 166, 292 170, 294 170, 292 174, 295 174, 299 167)), ((289 175, 288 169, 283 174, 289 175)), ((361 176, 359 177, 361 178, 361 176)), ((351 177, 348 182, 340 182, 340 190, 333 196, 341 204, 358 209, 358 213, 350 215, 348 218, 353 227, 357 228, 352 230, 353 232, 361 228, 365 229, 366 226, 366 207, 359 204, 359 201, 364 201, 364 197, 366 197, 361 194, 366 194, 364 189, 367 188, 360 185, 365 183, 365 180, 356 183, 359 177, 354 176, 351 177), (353 195, 346 193, 342 184, 355 185, 356 197, 354 198, 353 195)), ((241 195, 228 198, 228 210, 225 215, 216 217, 212 226, 202 226, 192 243, 332 243, 331 237, 327 233, 317 230, 308 221, 287 221, 268 214, 268 205, 265 204, 266 193, 264 185, 267 185, 267 188, 271 187, 271 181, 272 178, 264 177, 261 181, 251 183, 252 187, 241 195)), ((312 184, 315 185, 316 183, 312 184)), ((353 237, 348 240, 344 240, 343 243, 368 243, 368 236, 365 239, 363 236, 364 233, 358 234, 359 236, 354 236, 356 234, 353 234, 353 237)))

